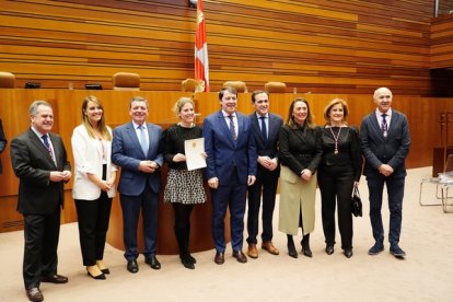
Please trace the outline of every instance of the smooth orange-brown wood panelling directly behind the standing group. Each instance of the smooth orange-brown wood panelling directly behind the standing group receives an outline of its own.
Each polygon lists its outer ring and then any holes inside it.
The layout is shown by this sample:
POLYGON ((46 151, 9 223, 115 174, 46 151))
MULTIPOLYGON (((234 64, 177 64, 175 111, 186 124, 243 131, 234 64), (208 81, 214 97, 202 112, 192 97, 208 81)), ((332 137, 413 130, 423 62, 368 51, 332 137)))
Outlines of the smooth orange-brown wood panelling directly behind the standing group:
MULTIPOLYGON (((190 96, 183 92, 118 92, 118 91, 84 91, 84 90, 0 90, 0 116, 7 139, 11 140, 25 131, 30 126, 28 106, 35 100, 47 100, 53 104, 55 115, 54 131, 61 135, 73 163, 71 152, 71 135, 73 128, 81 121, 81 104, 85 96, 96 95, 104 105, 108 125, 116 127, 130 120, 128 104, 132 95, 141 95, 150 102, 149 121, 155 124, 174 124, 177 118, 171 108, 179 96, 190 96)), ((270 111, 287 119, 288 108, 295 96, 309 100, 314 120, 324 125, 323 111, 334 97, 341 97, 349 104, 350 125, 360 126, 362 117, 372 112, 374 104, 371 94, 271 94, 270 111)), ((217 93, 198 93, 195 95, 196 111, 200 113, 199 123, 219 109, 217 93)), ((393 107, 405 113, 409 120, 411 148, 407 159, 408 167, 432 165, 432 150, 440 146, 439 113, 453 112, 453 98, 433 98, 419 96, 394 95, 393 107)), ((253 112, 251 93, 239 95, 239 111, 245 114, 253 112)), ((10 160, 10 144, 1 154, 3 174, 0 175, 0 232, 20 230, 22 216, 15 211, 19 181, 14 176, 10 160)), ((428 175, 427 175, 428 176, 428 175)), ((66 186, 66 206, 62 214, 63 222, 76 221, 77 214, 71 198, 72 182, 66 186)), ((114 202, 118 202, 116 198, 114 202)), ((170 228, 170 226, 169 226, 170 228)))

